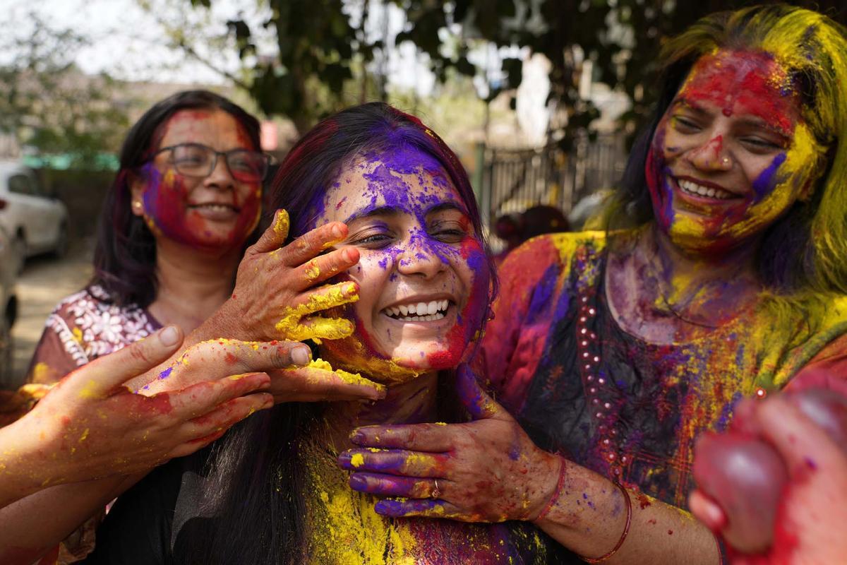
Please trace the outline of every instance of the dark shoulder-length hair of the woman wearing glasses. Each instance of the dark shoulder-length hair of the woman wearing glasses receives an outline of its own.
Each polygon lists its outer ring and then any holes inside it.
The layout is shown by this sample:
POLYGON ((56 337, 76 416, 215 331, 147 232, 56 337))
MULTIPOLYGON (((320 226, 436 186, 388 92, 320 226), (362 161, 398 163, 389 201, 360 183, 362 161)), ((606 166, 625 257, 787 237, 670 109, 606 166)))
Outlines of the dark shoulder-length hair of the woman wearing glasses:
POLYGON ((163 136, 162 126, 181 110, 223 110, 241 124, 258 149, 259 122, 226 98, 209 91, 183 91, 157 102, 126 135, 120 149, 120 169, 103 201, 94 249, 91 285, 100 285, 120 306, 147 307, 156 298, 156 241, 144 219, 130 209, 130 180, 141 174, 163 136))

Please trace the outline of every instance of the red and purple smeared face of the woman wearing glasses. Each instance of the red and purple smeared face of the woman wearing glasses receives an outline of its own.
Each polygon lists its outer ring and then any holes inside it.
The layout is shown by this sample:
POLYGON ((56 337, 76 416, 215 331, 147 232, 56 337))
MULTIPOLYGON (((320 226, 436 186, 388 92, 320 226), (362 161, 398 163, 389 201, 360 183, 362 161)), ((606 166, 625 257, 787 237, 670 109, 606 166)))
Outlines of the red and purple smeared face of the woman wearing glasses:
MULTIPOLYGON (((223 110, 182 110, 166 123, 157 147, 199 143, 219 152, 255 150, 244 128, 223 110)), ((160 152, 132 184, 136 215, 157 237, 204 250, 240 247, 255 229, 262 208, 259 182, 236 180, 224 156, 206 177, 174 169, 171 152, 160 152)))

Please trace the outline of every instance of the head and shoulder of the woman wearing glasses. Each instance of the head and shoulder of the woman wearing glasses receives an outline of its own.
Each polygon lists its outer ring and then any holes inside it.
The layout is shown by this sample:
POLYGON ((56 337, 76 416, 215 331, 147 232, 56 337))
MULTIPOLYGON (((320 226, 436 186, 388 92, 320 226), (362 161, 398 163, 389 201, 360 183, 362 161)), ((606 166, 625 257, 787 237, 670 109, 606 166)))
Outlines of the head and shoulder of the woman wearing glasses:
POLYGON ((50 383, 174 324, 186 334, 230 296, 262 210, 259 124, 208 91, 158 102, 126 137, 102 208, 94 277, 64 298, 30 365, 50 383))

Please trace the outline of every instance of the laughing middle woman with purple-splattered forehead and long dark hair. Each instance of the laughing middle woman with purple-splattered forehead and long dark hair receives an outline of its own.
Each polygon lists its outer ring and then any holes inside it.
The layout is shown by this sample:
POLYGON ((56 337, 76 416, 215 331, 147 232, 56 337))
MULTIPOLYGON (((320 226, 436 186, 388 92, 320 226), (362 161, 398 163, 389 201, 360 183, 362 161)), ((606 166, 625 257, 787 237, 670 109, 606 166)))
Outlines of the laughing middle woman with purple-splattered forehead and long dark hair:
MULTIPOLYGON (((345 311, 355 331, 318 351, 336 368, 384 383, 387 396, 257 413, 211 451, 169 463, 119 498, 89 562, 545 562, 545 541, 528 524, 384 518, 336 463, 359 425, 460 416, 452 374, 473 349, 492 281, 456 156, 417 119, 366 104, 304 136, 274 190, 275 207, 291 214, 291 235, 333 221, 348 226, 336 247, 360 258, 342 276, 359 289, 345 311)), ((424 457, 418 466, 430 463, 424 457)), ((435 479, 393 488, 439 496, 435 479)))

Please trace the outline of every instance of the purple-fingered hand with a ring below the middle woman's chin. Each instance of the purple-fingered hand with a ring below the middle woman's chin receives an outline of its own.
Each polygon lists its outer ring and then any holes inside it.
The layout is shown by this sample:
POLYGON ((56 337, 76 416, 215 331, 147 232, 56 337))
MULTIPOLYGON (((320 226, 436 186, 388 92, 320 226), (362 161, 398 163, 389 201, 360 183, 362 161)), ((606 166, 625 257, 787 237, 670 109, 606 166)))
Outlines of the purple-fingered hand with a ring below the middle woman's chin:
POLYGON ((351 487, 394 497, 375 509, 395 518, 537 518, 556 489, 559 458, 534 445, 467 365, 457 370, 457 391, 471 422, 355 429, 352 441, 360 447, 338 458, 353 471, 351 487))

